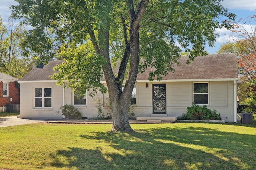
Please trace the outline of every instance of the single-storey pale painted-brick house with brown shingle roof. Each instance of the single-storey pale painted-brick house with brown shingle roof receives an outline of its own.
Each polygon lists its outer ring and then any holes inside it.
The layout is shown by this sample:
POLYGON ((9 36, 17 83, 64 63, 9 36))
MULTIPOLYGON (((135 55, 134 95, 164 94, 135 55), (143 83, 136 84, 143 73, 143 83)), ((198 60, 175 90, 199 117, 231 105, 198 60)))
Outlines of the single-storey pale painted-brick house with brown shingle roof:
MULTIPOLYGON (((192 102, 216 109, 222 120, 236 122, 236 86, 238 81, 237 55, 208 55, 196 57, 186 64, 182 56, 180 64, 174 66, 175 73, 163 76, 161 81, 148 81, 148 68, 138 74, 132 93, 132 111, 141 116, 180 116, 192 102)), ((34 67, 20 83, 20 117, 33 119, 62 119, 60 106, 74 105, 82 117, 97 117, 98 109, 94 100, 106 102, 108 94, 97 93, 77 98, 70 88, 56 86, 50 80, 53 67, 63 61, 49 61, 48 65, 34 67), (94 100, 93 100, 94 99, 94 100)), ((106 81, 102 79, 106 85, 106 81)), ((106 113, 106 110, 104 110, 106 113)))

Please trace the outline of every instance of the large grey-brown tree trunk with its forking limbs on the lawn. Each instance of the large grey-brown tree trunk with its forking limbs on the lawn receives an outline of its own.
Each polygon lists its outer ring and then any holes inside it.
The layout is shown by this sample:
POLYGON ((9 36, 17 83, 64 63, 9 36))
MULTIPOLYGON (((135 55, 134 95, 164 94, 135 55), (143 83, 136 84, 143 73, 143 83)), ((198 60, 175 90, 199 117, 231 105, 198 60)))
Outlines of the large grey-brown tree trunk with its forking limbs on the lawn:
MULTIPOLYGON (((96 38, 94 36, 93 29, 89 30, 92 43, 97 53, 101 54, 107 61, 106 64, 102 65, 103 72, 106 78, 107 86, 108 86, 108 94, 110 98, 110 106, 113 117, 113 125, 111 131, 133 131, 130 127, 128 121, 128 108, 130 104, 130 98, 132 95, 132 90, 134 88, 134 83, 138 74, 138 64, 140 61, 140 48, 139 48, 139 29, 140 29, 140 21, 142 16, 145 13, 146 6, 149 0, 139 0, 136 8, 134 9, 134 1, 128 0, 128 13, 130 18, 130 41, 128 43, 128 39, 126 37, 126 33, 124 38, 126 39, 126 50, 124 52, 124 57, 121 61, 120 70, 118 72, 118 77, 115 77, 112 71, 112 67, 110 64, 110 56, 109 56, 109 28, 110 23, 108 20, 103 18, 102 23, 104 27, 99 30, 99 37, 104 37, 104 41, 99 41, 97 43, 96 38), (100 48, 98 47, 100 45, 100 48), (122 91, 122 83, 124 81, 124 72, 126 70, 126 65, 128 59, 130 58, 130 70, 128 73, 128 78, 126 80, 124 90, 122 91)), ((108 17, 106 17, 108 18, 108 17)), ((124 31, 125 29, 125 23, 124 31)))

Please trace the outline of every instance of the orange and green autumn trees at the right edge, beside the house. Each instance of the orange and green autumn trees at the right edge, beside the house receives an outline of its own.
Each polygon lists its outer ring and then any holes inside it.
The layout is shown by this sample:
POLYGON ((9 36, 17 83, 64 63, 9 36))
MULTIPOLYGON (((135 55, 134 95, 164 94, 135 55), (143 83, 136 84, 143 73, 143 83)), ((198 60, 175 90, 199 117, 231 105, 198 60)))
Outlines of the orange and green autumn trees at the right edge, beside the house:
POLYGON ((237 53, 238 71, 242 83, 238 87, 239 104, 256 105, 256 15, 238 20, 233 24, 233 33, 239 37, 238 41, 226 42, 221 45, 217 53, 237 53), (241 24, 242 22, 242 24, 241 24), (246 27, 246 24, 249 25, 246 27))

